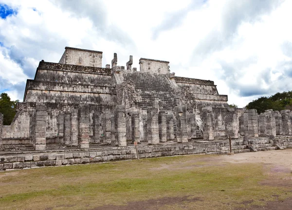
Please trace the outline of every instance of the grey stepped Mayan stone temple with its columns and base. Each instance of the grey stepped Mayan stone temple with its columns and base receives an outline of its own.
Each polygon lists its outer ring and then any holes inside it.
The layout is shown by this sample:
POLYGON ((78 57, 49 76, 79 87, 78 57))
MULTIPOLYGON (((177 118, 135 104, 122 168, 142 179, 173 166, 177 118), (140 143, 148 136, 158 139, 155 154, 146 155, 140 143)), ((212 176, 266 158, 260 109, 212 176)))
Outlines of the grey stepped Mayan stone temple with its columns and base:
POLYGON ((0 170, 224 154, 229 137, 233 153, 292 147, 290 110, 229 108, 214 81, 175 76, 168 61, 137 69, 114 53, 102 68, 102 56, 66 47, 58 63, 39 62, 11 125, 0 114, 0 170))

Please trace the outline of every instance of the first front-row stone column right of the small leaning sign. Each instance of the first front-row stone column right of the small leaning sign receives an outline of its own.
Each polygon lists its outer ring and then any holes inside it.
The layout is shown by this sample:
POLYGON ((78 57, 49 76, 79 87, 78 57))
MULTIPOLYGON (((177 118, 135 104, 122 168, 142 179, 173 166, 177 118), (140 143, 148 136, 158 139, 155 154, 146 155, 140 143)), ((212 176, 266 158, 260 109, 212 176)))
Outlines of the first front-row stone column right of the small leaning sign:
POLYGON ((159 143, 159 127, 158 127, 158 109, 147 109, 147 137, 148 144, 159 143))

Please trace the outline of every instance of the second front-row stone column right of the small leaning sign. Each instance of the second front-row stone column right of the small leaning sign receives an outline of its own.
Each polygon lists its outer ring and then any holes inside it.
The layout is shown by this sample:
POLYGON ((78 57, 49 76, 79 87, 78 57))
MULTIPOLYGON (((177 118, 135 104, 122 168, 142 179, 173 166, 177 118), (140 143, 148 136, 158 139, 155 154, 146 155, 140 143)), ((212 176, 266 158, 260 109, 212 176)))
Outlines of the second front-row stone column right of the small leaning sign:
POLYGON ((181 143, 188 142, 187 140, 187 119, 186 107, 176 106, 174 108, 177 118, 177 141, 181 143))

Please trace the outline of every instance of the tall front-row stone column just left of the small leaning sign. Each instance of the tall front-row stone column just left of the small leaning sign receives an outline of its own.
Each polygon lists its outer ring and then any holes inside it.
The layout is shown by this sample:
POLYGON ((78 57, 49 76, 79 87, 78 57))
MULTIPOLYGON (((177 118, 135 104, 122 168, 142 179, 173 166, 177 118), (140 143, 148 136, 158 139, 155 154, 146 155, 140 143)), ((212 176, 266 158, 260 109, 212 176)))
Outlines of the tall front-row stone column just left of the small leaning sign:
POLYGON ((127 146, 126 138, 126 109, 124 105, 118 105, 115 111, 116 145, 127 146))

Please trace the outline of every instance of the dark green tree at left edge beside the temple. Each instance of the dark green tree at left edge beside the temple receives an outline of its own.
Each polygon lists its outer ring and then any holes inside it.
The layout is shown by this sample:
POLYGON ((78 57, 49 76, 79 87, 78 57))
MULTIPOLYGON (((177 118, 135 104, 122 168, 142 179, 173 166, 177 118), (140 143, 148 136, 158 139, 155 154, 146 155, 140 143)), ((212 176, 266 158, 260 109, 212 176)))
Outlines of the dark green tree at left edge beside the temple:
POLYGON ((0 113, 3 114, 3 125, 10 125, 15 114, 18 100, 12 101, 8 94, 0 94, 0 113))

